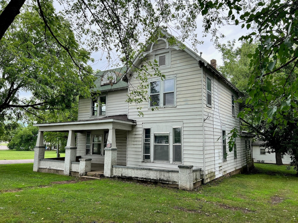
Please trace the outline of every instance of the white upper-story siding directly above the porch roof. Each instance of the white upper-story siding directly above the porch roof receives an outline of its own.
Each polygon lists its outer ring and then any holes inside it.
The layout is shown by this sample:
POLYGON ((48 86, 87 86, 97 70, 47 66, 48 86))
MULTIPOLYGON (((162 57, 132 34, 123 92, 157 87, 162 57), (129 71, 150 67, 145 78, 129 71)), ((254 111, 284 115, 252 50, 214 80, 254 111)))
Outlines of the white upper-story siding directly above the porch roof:
MULTIPOLYGON (((103 92, 104 93, 104 92, 103 92)), ((127 89, 107 92, 106 116, 127 114, 127 89)), ((101 117, 101 116, 99 116, 101 117)), ((93 119, 91 116, 91 98, 79 98, 78 120, 93 119)))

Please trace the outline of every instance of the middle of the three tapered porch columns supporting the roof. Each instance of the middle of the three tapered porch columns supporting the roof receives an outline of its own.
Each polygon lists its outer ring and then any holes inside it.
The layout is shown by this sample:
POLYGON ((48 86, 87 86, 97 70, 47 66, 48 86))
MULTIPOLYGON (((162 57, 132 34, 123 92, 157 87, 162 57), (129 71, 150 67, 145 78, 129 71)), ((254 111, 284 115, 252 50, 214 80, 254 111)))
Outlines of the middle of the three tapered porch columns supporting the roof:
POLYGON ((77 147, 75 145, 75 132, 69 130, 67 143, 65 147, 64 175, 70 175, 72 162, 75 162, 77 147))

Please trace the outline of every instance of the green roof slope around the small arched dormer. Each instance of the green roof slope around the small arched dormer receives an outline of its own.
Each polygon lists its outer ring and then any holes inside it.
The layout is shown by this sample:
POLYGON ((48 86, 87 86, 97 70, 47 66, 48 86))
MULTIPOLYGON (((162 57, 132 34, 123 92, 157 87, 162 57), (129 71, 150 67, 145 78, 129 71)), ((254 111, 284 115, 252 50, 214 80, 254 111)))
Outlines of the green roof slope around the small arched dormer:
POLYGON ((126 71, 126 67, 119 67, 119 68, 115 68, 115 69, 110 69, 110 70, 104 70, 104 71, 100 71, 98 72, 95 76, 97 76, 97 79, 94 81, 95 87, 92 89, 92 92, 95 91, 114 91, 117 89, 123 89, 123 88, 127 88, 128 84, 125 81, 121 81, 122 76, 124 75, 126 71), (109 71, 113 71, 116 73, 117 75, 117 81, 115 84, 113 84, 113 86, 111 86, 110 84, 106 84, 101 86, 101 78, 103 77, 103 75, 106 72, 109 71))

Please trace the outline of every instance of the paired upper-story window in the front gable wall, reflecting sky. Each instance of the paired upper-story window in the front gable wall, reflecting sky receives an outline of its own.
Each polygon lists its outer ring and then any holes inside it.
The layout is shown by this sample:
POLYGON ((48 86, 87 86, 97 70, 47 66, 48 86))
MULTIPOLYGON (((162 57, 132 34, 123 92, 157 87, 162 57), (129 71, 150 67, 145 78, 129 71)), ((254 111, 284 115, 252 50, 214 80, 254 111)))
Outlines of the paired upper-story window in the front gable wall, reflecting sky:
POLYGON ((150 82, 150 107, 175 106, 176 79, 150 82))

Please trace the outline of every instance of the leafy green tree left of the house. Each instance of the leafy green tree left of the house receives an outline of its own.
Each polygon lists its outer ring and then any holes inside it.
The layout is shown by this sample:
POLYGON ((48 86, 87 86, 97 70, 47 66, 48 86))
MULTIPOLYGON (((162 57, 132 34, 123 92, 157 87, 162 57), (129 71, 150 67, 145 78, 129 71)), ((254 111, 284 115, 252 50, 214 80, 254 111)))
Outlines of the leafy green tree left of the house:
POLYGON ((4 120, 21 119, 24 111, 35 114, 37 110, 64 110, 71 107, 78 94, 90 95, 94 80, 91 67, 86 66, 90 53, 80 48, 71 24, 55 14, 52 3, 45 5, 44 13, 51 15, 47 24, 38 6, 24 5, 1 39, 2 124, 4 120), (21 91, 31 92, 32 97, 20 98, 21 91))

